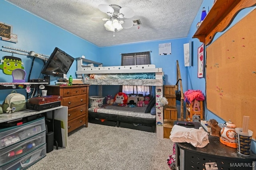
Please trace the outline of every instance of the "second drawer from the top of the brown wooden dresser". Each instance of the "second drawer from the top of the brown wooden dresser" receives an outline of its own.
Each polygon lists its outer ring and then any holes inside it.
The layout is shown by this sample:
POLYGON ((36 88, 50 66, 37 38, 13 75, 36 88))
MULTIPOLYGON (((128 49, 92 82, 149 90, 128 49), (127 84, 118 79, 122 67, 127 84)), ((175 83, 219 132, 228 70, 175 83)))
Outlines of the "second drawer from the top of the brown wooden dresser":
POLYGON ((84 104, 86 104, 86 94, 63 98, 63 106, 68 106, 68 108, 84 104))

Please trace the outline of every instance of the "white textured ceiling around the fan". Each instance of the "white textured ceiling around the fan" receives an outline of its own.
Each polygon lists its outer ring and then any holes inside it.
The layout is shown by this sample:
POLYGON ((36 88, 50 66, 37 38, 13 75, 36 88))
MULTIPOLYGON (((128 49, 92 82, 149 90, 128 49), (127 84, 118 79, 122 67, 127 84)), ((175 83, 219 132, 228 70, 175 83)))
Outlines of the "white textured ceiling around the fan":
POLYGON ((98 47, 176 39, 186 37, 203 0, 6 0, 54 25, 57 25, 98 47), (138 25, 115 32, 107 31, 109 18, 98 9, 99 4, 116 4, 134 10, 131 20, 138 25))

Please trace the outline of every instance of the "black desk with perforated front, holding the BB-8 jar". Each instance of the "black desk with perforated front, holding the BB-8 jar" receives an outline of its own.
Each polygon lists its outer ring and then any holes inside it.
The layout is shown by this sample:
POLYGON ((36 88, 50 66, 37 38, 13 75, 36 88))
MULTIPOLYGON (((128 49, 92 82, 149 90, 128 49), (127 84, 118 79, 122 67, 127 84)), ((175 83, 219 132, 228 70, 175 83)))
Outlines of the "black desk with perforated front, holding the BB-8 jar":
MULTIPOLYGON (((199 127, 200 123, 195 123, 194 128, 199 127)), ((209 142, 204 148, 193 147, 190 143, 176 143, 176 169, 203 170, 208 162, 216 162, 219 170, 256 169, 256 154, 242 156, 237 149, 220 143, 219 137, 209 135, 209 142)))

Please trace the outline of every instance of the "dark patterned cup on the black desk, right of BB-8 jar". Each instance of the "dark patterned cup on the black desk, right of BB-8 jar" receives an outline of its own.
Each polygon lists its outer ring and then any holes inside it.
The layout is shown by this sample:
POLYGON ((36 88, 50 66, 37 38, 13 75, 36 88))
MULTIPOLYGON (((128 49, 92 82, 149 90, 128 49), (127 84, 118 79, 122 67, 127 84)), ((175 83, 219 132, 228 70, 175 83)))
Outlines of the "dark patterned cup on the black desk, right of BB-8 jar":
POLYGON ((242 128, 237 127, 236 130, 236 143, 237 152, 244 156, 250 156, 252 131, 248 130, 248 133, 242 132, 242 128))

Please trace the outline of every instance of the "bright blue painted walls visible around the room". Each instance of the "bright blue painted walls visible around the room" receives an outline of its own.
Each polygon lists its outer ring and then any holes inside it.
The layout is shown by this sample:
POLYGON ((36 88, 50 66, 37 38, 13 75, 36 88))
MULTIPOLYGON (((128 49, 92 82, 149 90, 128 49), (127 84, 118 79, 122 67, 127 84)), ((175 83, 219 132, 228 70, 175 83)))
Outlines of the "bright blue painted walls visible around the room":
MULTIPOLYGON (((8 46, 16 49, 50 55, 54 48, 58 47, 74 58, 84 55, 86 56, 86 59, 104 63, 105 66, 120 65, 121 53, 152 51, 151 62, 152 64, 155 64, 156 67, 161 67, 163 69, 165 75, 164 84, 173 85, 176 83, 176 60, 178 60, 184 92, 188 89, 198 89, 202 90, 205 94, 205 79, 197 78, 197 48, 202 45, 202 43, 198 41, 198 39, 192 38, 196 32, 196 24, 201 18, 201 10, 198 12, 191 25, 188 37, 99 48, 96 45, 93 45, 92 43, 85 41, 84 39, 81 39, 76 35, 49 23, 48 21, 42 20, 41 18, 38 18, 6 1, 1 0, 0 3, 0 22, 12 25, 13 33, 18 35, 18 43, 0 41, 1 48, 2 46, 8 46), (184 67, 183 44, 188 43, 189 41, 192 41, 193 45, 192 66, 184 67), (160 43, 172 43, 172 54, 159 56, 158 44, 160 43)), ((200 9, 202 9, 202 7, 206 7, 206 10, 210 9, 212 7, 212 1, 204 0, 200 9)), ((239 12, 230 27, 239 21, 245 14, 250 12, 250 10, 252 10, 252 8, 247 8, 239 12)), ((173 30, 170 29, 170 31, 173 30)), ((168 34, 168 32, 166 34, 168 34)), ((217 33, 214 40, 216 40, 220 35, 222 35, 222 33, 217 33)), ((12 55, 12 53, 0 51, 0 59, 6 55, 12 55)), ((13 55, 14 57, 22 59, 25 70, 28 74, 32 64, 32 57, 18 54, 13 55)), ((42 78, 42 74, 40 74, 42 66, 43 62, 40 59, 35 59, 30 79, 42 78)), ((68 76, 69 75, 72 75, 74 78, 76 77, 76 61, 72 64, 70 72, 68 73, 68 76)), ((50 78, 50 84, 54 84, 58 77, 51 76, 50 78)), ((0 82, 12 82, 12 76, 4 74, 2 70, 0 70, 0 82)), ((110 86, 104 88, 104 95, 112 93, 115 94, 116 92, 116 87, 112 88, 112 86, 110 86)), ((97 90, 95 86, 91 86, 90 89, 90 95, 96 94, 97 90)), ((4 98, 10 93, 10 91, 11 90, 1 90, 0 103, 4 101, 4 98)), ((25 90, 18 90, 18 92, 25 94, 25 90)), ((206 119, 212 118, 216 119, 219 123, 224 122, 224 120, 215 114, 210 111, 206 111, 206 119)), ((252 143, 252 150, 255 152, 256 142, 252 143)))

